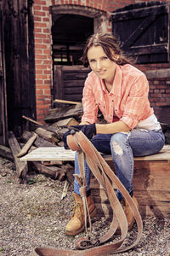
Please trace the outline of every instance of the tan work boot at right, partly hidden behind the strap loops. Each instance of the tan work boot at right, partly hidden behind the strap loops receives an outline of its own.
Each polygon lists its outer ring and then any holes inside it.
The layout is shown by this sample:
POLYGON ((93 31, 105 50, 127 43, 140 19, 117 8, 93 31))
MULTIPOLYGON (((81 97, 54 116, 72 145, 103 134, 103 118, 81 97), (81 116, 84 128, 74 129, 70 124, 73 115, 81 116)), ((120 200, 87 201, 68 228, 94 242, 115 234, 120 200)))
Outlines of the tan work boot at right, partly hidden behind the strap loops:
MULTIPOLYGON (((133 201, 134 201, 135 205, 139 208, 139 203, 134 195, 133 195, 133 201)), ((134 224, 133 212, 131 212, 129 205, 127 204, 127 201, 125 201, 124 198, 122 198, 121 205, 122 205, 122 208, 127 217, 128 231, 132 230, 133 224, 134 224)), ((117 228, 115 234, 121 234, 121 228, 119 225, 118 225, 118 228, 117 228)))

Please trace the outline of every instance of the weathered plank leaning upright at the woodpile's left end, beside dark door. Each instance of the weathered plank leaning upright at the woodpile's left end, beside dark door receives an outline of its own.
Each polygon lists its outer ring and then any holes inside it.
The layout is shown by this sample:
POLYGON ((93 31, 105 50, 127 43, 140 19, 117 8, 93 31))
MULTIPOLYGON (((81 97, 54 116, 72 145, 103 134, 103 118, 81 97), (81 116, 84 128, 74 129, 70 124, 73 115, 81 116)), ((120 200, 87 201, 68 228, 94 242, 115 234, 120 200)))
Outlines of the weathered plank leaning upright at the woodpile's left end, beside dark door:
POLYGON ((14 133, 12 131, 8 132, 8 144, 14 156, 14 163, 18 177, 22 179, 26 178, 26 173, 28 172, 27 162, 26 160, 20 161, 20 159, 17 157, 17 154, 20 153, 20 145, 14 137, 14 133))

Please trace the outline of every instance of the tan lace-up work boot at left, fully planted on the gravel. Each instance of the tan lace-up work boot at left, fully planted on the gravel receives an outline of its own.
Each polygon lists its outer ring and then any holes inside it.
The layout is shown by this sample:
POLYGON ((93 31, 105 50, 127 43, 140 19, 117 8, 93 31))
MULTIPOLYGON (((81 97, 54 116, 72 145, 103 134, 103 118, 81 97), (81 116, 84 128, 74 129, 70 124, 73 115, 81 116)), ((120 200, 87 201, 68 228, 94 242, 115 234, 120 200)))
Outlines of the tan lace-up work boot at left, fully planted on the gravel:
MULTIPOLYGON (((84 220, 84 210, 83 210, 83 203, 82 198, 80 195, 73 193, 74 200, 75 200, 75 209, 73 212, 73 216, 71 220, 66 224, 65 227, 65 234, 69 236, 76 236, 80 232, 85 229, 85 220, 84 220)), ((96 214, 97 210, 94 206, 94 201, 92 196, 89 195, 87 198, 88 201, 88 211, 90 213, 90 217, 93 218, 96 214)))

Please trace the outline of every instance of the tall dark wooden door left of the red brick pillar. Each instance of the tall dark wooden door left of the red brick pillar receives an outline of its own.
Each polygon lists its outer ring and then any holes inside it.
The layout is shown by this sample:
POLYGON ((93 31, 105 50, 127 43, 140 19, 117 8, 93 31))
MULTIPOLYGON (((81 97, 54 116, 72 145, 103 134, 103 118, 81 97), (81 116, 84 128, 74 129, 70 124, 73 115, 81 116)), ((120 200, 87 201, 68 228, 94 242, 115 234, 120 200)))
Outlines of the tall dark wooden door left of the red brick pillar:
POLYGON ((22 115, 36 119, 33 15, 30 0, 3 1, 8 130, 20 136, 22 115))

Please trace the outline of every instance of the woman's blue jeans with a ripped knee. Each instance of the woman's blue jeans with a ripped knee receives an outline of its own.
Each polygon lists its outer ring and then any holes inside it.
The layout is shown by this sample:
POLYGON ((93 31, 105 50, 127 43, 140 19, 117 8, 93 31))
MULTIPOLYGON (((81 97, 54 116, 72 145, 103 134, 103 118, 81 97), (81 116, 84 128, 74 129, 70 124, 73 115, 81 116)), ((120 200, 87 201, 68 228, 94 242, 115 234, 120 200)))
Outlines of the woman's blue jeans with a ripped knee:
MULTIPOLYGON (((133 156, 144 156, 158 153, 164 146, 165 137, 161 130, 159 131, 140 131, 133 129, 127 132, 117 132, 115 134, 97 134, 91 140, 94 147, 104 154, 111 154, 116 170, 116 176, 125 186, 127 191, 133 191, 133 156)), ((90 187, 91 170, 86 161, 85 176, 87 182, 87 191, 90 187)), ((75 173, 79 174, 77 154, 75 156, 75 173)), ((77 179, 74 181, 74 192, 79 193, 80 185, 77 179)), ((117 189, 117 197, 122 200, 122 194, 117 189)))

